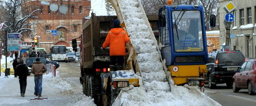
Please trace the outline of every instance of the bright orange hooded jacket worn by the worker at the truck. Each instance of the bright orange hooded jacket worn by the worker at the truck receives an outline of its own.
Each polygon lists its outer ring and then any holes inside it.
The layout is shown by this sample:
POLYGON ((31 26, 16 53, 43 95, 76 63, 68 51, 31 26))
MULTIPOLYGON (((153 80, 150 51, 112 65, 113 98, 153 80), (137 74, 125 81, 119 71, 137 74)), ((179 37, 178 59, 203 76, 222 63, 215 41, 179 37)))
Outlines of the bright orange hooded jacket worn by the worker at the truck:
POLYGON ((123 28, 112 28, 105 39, 102 47, 109 47, 110 56, 125 55, 125 43, 128 43, 130 38, 123 28))

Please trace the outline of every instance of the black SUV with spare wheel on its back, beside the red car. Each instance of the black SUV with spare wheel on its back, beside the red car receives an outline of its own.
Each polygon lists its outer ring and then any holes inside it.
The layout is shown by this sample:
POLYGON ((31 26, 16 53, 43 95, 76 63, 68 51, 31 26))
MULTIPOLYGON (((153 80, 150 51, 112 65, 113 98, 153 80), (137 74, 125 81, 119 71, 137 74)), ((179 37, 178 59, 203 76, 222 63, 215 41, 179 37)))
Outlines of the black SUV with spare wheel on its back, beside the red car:
POLYGON ((214 88, 216 84, 232 86, 232 77, 245 61, 244 55, 240 51, 212 51, 208 54, 206 63, 209 88, 214 88))

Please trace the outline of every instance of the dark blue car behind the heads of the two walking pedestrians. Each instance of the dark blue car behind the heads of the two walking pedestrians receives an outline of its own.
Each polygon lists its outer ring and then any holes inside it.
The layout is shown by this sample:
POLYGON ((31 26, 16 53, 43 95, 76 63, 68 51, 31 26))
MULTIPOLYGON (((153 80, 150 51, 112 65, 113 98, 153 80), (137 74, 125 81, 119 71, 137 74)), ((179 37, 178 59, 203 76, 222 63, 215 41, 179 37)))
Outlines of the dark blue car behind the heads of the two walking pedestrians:
POLYGON ((59 68, 59 67, 60 67, 60 63, 58 63, 58 62, 56 62, 56 61, 48 61, 48 60, 46 60, 46 59, 44 59, 44 58, 42 58, 42 57, 26 58, 26 59, 24 59, 24 63, 25 63, 28 67, 31 68, 31 67, 32 67, 32 64, 33 64, 34 62, 36 62, 36 58, 39 58, 40 61, 41 61, 42 63, 44 63, 44 65, 46 65, 46 64, 52 64, 52 65, 55 65, 56 68, 59 68))

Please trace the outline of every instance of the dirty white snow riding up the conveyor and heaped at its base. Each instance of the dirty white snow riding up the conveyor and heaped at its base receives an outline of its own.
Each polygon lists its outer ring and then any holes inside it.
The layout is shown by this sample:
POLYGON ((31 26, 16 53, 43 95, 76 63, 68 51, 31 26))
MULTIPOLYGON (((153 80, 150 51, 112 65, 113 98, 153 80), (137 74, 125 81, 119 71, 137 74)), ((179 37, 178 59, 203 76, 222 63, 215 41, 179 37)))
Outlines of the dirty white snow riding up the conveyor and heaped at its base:
MULTIPOLYGON (((130 41, 136 51, 144 85, 120 93, 127 106, 219 106, 197 88, 188 90, 166 81, 163 65, 157 50, 157 41, 148 24, 139 0, 117 0, 130 41)), ((114 106, 117 104, 113 104, 114 106)))

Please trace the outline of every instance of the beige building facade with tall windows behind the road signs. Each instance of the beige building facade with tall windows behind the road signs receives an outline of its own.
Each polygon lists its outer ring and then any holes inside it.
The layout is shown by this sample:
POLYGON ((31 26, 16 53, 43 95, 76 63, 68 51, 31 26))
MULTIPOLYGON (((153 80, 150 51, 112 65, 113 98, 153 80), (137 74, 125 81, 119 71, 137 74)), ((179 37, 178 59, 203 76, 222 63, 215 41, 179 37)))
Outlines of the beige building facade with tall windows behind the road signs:
MULTIPOLYGON (((226 29, 224 25, 227 14, 224 6, 230 0, 219 0, 220 3, 220 45, 225 44, 226 29)), ((234 21, 231 23, 230 47, 232 50, 240 50, 245 57, 256 57, 256 1, 255 0, 232 0, 236 9, 234 21)))

